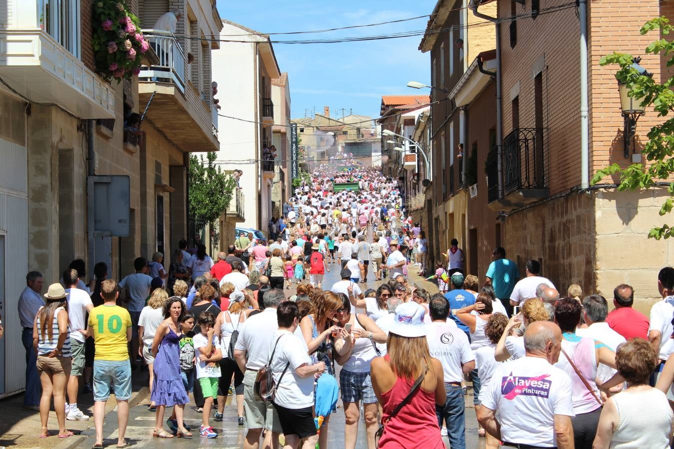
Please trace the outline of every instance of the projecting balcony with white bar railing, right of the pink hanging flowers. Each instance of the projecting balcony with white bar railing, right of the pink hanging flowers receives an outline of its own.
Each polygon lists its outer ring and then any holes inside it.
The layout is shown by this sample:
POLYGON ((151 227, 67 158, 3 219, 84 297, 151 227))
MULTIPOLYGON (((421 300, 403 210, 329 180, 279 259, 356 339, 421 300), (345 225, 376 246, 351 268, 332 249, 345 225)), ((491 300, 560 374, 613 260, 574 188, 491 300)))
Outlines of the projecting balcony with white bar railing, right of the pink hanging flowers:
MULTIPOLYGON (((210 92, 202 95, 187 71, 187 51, 166 31, 144 29, 156 59, 138 75, 140 104, 147 116, 183 151, 218 151, 217 112, 210 92)), ((203 76, 210 73, 203 73, 203 76)))

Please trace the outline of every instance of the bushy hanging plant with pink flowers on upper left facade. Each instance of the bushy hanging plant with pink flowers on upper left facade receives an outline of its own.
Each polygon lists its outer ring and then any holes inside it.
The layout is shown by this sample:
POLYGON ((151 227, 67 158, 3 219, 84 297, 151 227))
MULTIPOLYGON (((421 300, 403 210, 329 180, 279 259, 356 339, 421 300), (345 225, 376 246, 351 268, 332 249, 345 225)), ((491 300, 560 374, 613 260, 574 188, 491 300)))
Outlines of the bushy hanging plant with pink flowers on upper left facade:
POLYGON ((124 1, 100 0, 93 5, 92 44, 96 70, 106 81, 130 79, 140 73, 141 55, 150 42, 140 21, 124 1))

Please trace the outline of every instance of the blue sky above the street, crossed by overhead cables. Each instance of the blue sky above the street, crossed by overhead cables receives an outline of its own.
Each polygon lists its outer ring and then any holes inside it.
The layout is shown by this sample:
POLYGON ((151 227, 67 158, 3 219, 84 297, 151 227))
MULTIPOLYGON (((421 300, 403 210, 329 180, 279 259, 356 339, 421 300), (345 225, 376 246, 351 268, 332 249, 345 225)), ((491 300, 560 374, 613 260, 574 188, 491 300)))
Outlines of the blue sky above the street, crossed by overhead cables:
MULTIPOLYGON (((435 0, 391 2, 341 1, 224 1, 218 0, 220 17, 263 33, 321 30, 373 24, 430 14, 435 0), (399 3, 398 5, 395 5, 399 3), (392 4, 394 6, 392 6, 392 4)), ((272 40, 344 38, 425 30, 428 18, 321 34, 272 36, 272 40)), ((430 82, 430 56, 417 48, 421 36, 342 42, 336 44, 274 44, 281 71, 288 72, 292 118, 353 109, 354 114, 379 116, 382 95, 426 94, 406 87, 408 81, 430 82)), ((225 101, 226 104, 226 101, 225 101)))

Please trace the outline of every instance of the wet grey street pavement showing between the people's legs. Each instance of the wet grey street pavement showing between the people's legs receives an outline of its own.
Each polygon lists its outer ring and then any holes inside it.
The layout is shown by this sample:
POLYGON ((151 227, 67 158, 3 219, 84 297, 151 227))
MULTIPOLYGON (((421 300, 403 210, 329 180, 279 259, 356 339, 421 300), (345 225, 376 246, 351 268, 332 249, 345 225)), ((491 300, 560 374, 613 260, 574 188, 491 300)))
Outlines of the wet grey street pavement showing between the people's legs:
MULTIPOLYGON (((327 289, 333 283, 339 280, 340 266, 336 263, 328 264, 330 273, 325 275, 325 283, 323 287, 327 289)), ((410 273, 416 267, 410 266, 410 273)), ((374 273, 370 270, 369 279, 374 279, 374 273)), ((367 284, 361 284, 361 289, 365 291, 367 288, 376 288, 381 285, 381 282, 369 281, 367 284)), ((286 294, 290 296, 295 294, 295 289, 285 290, 286 294)), ((138 372, 134 372, 137 374, 138 372)), ((148 376, 147 372, 142 373, 143 376, 148 376)), ((191 396, 191 395, 190 395, 191 396)), ((484 448, 485 439, 477 436, 477 419, 472 408, 472 389, 468 389, 466 397, 466 448, 484 448)), ((214 431, 218 433, 218 438, 201 438, 198 434, 199 425, 201 423, 201 413, 195 411, 194 403, 188 404, 185 407, 185 423, 189 425, 194 434, 191 438, 171 438, 161 439, 152 437, 152 429, 154 428, 155 414, 148 411, 148 404, 150 397, 148 396, 140 405, 131 408, 129 412, 129 424, 127 427, 127 440, 132 444, 132 448, 241 448, 243 447, 243 440, 245 438, 246 427, 237 424, 237 412, 235 399, 228 396, 228 403, 224 407, 224 419, 222 422, 215 422, 212 419, 210 424, 214 431)), ((336 413, 332 414, 330 419, 330 431, 328 446, 329 448, 343 448, 344 447, 344 409, 341 407, 341 401, 338 401, 338 409, 336 413)), ((166 417, 171 414, 171 409, 168 409, 164 417, 164 429, 168 430, 166 426, 166 417)), ((76 446, 78 448, 91 448, 94 444, 94 428, 93 419, 91 421, 90 429, 84 431, 82 434, 89 438, 82 444, 76 446)), ((104 446, 115 447, 117 444, 117 413, 113 411, 106 415, 104 423, 104 446)), ((359 424, 357 449, 367 448, 367 439, 365 437, 365 424, 362 421, 359 424)), ((444 437, 445 444, 449 448, 449 442, 444 437)))

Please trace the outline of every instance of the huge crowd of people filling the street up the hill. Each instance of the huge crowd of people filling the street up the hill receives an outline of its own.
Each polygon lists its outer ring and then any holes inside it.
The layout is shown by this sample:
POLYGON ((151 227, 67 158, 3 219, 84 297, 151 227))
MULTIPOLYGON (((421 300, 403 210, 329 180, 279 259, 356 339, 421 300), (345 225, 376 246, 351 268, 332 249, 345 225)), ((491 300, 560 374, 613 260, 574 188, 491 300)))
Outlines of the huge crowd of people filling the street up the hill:
POLYGON ((156 252, 119 283, 96 264, 88 284, 73 261, 44 296, 42 275, 28 273, 24 402, 40 411, 40 437, 52 400, 59 438, 72 434, 67 420, 89 419, 83 390, 94 394, 94 448, 111 394, 117 447, 128 446, 139 366, 156 438, 216 438, 211 422, 234 396, 231 425, 245 427, 247 449, 278 448, 280 436, 284 448, 327 448, 336 419, 349 449, 361 419, 371 449, 443 448, 443 436, 465 448, 469 381, 489 449, 669 448, 674 268, 658 273, 663 300, 650 319, 632 307, 630 285, 615 288, 609 313, 579 285, 560 294, 536 260, 520 279, 504 248, 486 273, 466 273, 455 239, 429 268, 396 181, 367 168, 319 166, 279 215, 268 240, 242 234, 216 261, 182 240, 168 270, 156 252), (358 188, 341 190, 346 182, 358 188), (340 280, 327 285, 331 268, 340 280), (423 278, 439 293, 419 287, 423 278), (188 405, 198 429, 185 423, 188 405))

